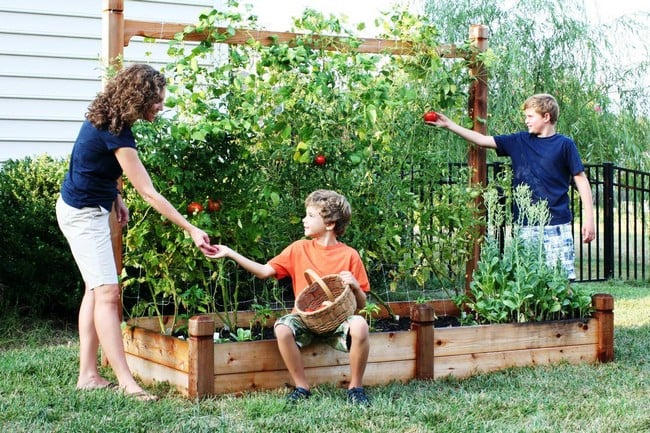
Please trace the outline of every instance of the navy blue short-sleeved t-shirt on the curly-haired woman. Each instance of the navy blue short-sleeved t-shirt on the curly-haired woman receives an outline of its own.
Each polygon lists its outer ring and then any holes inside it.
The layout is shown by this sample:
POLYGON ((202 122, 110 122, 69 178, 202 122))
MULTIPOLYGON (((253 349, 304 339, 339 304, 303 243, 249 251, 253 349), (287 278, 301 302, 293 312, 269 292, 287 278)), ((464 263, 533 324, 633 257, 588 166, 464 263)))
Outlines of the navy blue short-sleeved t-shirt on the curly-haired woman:
POLYGON ((72 207, 101 206, 111 210, 117 197, 117 179, 122 167, 115 149, 136 148, 131 128, 120 135, 99 130, 86 120, 72 148, 70 167, 63 179, 61 198, 72 207))

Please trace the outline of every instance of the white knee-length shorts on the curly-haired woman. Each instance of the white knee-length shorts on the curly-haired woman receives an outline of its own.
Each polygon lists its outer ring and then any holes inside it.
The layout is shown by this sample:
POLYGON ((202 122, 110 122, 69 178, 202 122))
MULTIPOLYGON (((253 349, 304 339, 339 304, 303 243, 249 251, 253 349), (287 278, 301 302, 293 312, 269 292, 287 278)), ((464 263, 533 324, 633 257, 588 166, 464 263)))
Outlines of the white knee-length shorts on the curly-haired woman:
POLYGON ((56 201, 56 219, 70 244, 86 287, 117 284, 117 267, 108 221, 110 212, 101 206, 77 209, 61 197, 56 201))

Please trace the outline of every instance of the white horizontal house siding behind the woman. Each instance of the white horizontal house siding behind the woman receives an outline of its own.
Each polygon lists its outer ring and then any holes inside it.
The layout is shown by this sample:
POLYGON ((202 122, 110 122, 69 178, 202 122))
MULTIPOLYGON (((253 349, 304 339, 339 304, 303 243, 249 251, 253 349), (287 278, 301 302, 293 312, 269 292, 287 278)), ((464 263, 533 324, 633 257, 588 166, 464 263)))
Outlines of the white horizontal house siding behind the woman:
MULTIPOLYGON (((192 23, 222 0, 125 1, 125 18, 192 23)), ((101 90, 101 0, 0 2, 0 163, 67 156, 101 90)), ((134 38, 125 62, 159 65, 167 41, 134 38), (151 53, 151 54, 147 54, 151 53)))

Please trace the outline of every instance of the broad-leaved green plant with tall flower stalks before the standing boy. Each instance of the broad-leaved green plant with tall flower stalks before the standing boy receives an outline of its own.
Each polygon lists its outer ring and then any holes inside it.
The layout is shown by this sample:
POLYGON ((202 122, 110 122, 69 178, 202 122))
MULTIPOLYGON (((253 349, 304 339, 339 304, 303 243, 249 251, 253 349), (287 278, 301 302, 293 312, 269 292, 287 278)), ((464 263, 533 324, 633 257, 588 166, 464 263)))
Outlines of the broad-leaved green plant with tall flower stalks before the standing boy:
POLYGON ((485 206, 493 221, 512 227, 503 239, 499 226, 491 226, 481 244, 481 256, 472 275, 470 289, 455 302, 463 309, 464 323, 521 323, 587 317, 591 313, 591 293, 571 286, 560 263, 546 263, 543 230, 538 239, 527 241, 519 235, 521 223, 544 227, 550 220, 546 202, 531 201, 530 189, 518 186, 512 201, 520 209, 520 219, 512 221, 500 203, 496 186, 485 194, 485 206), (507 215, 507 217, 505 216, 507 215), (500 245, 504 243, 504 251, 500 245))

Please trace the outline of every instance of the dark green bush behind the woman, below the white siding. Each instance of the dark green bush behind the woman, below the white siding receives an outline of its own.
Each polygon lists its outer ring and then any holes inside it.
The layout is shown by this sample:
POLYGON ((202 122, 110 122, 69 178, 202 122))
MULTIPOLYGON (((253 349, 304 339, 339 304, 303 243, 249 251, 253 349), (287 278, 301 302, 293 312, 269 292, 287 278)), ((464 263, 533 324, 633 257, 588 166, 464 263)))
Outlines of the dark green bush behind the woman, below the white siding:
POLYGON ((78 309, 83 283, 55 213, 66 169, 46 155, 0 169, 0 307, 60 317, 78 309))

